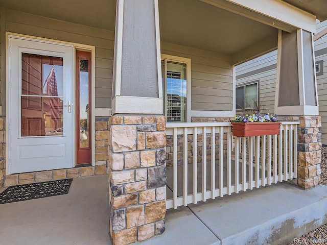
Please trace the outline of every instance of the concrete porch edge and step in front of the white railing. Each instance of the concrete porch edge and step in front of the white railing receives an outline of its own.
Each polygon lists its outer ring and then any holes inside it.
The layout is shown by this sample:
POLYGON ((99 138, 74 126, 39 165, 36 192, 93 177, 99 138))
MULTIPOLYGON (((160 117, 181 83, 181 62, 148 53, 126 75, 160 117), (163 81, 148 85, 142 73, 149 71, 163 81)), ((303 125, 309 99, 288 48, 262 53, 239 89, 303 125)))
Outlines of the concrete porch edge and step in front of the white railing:
POLYGON ((142 244, 283 245, 325 223, 327 186, 278 183, 168 210, 166 232, 142 244))

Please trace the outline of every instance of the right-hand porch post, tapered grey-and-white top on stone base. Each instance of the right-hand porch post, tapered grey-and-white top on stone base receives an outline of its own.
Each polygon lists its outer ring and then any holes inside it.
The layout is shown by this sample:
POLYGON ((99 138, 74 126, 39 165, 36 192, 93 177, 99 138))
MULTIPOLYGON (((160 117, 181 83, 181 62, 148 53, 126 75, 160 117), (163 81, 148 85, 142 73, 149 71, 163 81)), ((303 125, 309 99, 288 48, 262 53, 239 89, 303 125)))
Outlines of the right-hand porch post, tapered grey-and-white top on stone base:
POLYGON ((320 184, 321 118, 318 109, 312 33, 279 30, 275 113, 298 116, 297 185, 320 184))

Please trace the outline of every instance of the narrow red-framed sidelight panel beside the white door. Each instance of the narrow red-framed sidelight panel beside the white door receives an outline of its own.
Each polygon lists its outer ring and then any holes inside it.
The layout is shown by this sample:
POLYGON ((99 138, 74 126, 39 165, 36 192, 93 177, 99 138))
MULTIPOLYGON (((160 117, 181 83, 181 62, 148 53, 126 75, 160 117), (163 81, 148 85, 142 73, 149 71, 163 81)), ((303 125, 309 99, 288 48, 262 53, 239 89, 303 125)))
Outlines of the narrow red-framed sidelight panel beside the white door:
POLYGON ((76 52, 76 162, 91 163, 91 53, 76 52))

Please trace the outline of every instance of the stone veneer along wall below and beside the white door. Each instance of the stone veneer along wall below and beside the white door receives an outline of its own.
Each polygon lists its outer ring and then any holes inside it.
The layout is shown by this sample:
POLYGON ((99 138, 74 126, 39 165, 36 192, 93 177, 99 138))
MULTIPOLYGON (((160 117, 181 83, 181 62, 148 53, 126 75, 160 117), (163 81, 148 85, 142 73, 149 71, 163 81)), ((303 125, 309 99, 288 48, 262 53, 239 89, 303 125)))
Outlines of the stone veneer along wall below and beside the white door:
POLYGON ((0 118, 0 188, 11 185, 30 184, 43 181, 71 179, 86 176, 106 175, 108 167, 108 118, 96 117, 96 165, 74 168, 36 171, 6 176, 5 163, 5 118, 0 118))

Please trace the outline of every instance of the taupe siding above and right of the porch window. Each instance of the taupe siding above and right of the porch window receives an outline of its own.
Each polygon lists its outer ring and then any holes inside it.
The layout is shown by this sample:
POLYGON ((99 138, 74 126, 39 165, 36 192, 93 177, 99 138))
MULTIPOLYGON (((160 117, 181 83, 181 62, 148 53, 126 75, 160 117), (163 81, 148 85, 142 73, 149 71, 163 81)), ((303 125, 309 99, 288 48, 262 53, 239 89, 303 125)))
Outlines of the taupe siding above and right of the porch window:
POLYGON ((161 53, 191 59, 191 109, 232 110, 232 67, 226 55, 161 43, 161 53))

